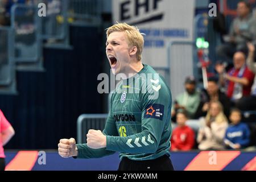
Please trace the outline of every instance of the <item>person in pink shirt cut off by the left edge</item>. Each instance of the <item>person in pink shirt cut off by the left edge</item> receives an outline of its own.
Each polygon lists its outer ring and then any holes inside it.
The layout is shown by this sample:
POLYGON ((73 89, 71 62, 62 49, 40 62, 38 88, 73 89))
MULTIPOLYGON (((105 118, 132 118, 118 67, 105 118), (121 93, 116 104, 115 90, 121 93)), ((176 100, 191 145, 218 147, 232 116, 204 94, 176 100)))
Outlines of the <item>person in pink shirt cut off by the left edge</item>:
POLYGON ((14 129, 0 110, 0 171, 5 170, 5 153, 3 146, 9 142, 14 135, 14 129))

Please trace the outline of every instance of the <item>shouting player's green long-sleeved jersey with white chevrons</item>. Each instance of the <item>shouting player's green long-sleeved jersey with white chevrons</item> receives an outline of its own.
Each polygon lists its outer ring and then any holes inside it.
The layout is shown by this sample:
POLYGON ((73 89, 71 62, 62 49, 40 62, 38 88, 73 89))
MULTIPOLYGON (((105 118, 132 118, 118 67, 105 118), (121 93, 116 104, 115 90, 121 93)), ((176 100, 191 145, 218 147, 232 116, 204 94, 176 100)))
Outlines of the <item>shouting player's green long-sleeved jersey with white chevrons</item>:
POLYGON ((77 158, 99 158, 119 152, 119 158, 151 160, 170 155, 171 91, 149 65, 122 80, 111 98, 103 134, 106 148, 77 144, 77 158))

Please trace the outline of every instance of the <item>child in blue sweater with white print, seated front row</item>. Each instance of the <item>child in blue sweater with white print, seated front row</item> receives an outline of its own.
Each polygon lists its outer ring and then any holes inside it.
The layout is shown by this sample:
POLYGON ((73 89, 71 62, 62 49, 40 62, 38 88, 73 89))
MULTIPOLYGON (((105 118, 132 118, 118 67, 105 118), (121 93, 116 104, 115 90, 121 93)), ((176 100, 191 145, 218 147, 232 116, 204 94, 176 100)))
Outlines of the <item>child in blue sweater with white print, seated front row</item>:
POLYGON ((226 130, 224 142, 228 148, 241 149, 250 143, 250 130, 245 123, 241 123, 242 113, 239 109, 230 111, 231 125, 226 130))

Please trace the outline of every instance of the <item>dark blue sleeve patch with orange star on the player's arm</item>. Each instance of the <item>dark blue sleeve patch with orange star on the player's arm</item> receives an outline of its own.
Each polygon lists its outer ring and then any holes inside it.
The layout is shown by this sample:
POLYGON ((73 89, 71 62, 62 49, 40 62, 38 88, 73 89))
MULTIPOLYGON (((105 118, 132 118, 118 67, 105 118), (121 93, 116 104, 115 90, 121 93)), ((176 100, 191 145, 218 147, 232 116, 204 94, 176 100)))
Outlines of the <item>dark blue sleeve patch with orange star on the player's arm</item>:
POLYGON ((144 118, 155 118, 163 121, 164 105, 148 104, 144 113, 144 118))

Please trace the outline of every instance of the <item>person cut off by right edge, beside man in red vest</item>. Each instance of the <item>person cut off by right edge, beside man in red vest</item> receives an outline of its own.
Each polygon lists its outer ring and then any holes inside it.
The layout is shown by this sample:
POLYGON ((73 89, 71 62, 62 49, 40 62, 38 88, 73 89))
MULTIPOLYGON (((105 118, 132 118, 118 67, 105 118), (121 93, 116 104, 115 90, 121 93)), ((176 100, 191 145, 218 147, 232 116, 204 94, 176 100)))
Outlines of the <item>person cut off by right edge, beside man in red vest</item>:
MULTIPOLYGON (((247 67, 256 73, 256 63, 254 63, 255 46, 252 43, 248 43, 247 47, 249 49, 248 57, 246 60, 247 67)), ((254 77, 254 84, 251 87, 251 95, 241 98, 240 102, 237 104, 237 107, 241 110, 256 110, 256 76, 254 77)))

